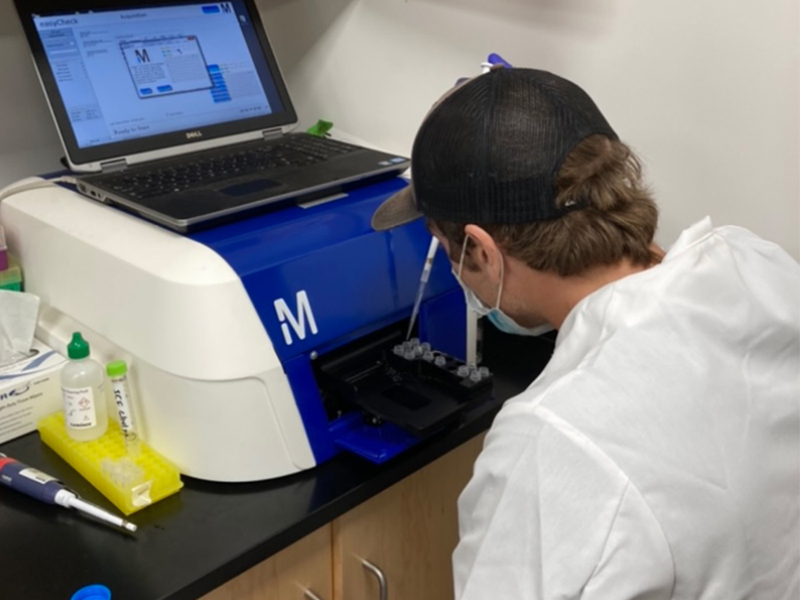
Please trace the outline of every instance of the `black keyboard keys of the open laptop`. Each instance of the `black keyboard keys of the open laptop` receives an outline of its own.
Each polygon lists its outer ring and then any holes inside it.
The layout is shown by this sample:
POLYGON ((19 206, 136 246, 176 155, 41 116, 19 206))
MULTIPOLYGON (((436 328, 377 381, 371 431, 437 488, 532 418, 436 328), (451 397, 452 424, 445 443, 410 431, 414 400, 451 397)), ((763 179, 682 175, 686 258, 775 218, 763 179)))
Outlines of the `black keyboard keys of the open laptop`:
POLYGON ((305 167, 359 150, 328 138, 292 135, 277 143, 238 152, 214 154, 199 160, 159 168, 136 168, 103 178, 104 187, 136 199, 176 194, 219 181, 273 171, 305 167))

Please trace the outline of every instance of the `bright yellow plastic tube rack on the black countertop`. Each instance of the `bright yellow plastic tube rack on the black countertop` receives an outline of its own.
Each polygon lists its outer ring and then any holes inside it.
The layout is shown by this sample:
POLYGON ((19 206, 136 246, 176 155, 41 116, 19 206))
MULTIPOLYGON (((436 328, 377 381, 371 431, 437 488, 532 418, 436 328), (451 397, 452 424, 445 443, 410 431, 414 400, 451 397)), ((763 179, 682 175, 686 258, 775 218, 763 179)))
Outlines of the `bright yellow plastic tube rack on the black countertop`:
POLYGON ((166 458, 140 441, 140 453, 129 459, 125 450, 122 430, 116 421, 108 420, 108 431, 91 442, 76 442, 67 435, 62 411, 39 421, 42 441, 97 488, 124 514, 150 506, 183 487, 180 472, 166 458), (109 466, 124 466, 135 471, 136 477, 120 481, 110 472, 109 466))

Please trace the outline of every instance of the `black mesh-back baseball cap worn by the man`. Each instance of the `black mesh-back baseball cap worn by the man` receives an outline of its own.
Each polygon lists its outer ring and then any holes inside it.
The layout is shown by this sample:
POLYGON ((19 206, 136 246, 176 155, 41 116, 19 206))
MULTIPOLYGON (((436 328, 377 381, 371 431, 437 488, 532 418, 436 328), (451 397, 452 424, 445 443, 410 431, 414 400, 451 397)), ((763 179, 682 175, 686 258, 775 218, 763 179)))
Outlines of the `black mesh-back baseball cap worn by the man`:
POLYGON ((617 135, 589 95, 536 69, 495 69, 446 94, 411 151, 411 185, 386 200, 372 227, 421 216, 453 223, 555 219, 555 182, 570 151, 591 135, 617 135))

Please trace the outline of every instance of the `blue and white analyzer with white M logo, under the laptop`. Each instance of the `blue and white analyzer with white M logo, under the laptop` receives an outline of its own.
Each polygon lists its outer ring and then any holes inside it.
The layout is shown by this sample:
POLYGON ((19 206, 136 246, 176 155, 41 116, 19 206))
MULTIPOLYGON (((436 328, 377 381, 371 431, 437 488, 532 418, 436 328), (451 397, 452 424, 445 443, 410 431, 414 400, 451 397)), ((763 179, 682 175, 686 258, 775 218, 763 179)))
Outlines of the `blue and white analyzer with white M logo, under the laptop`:
POLYGON ((370 227, 405 185, 189 236, 59 186, 8 197, 0 217, 41 298, 37 337, 63 350, 80 330, 99 360, 127 361, 142 437, 182 473, 255 481, 343 451, 383 462, 491 399, 485 369, 462 362, 468 319, 443 252, 421 342, 406 341, 430 233, 370 227))

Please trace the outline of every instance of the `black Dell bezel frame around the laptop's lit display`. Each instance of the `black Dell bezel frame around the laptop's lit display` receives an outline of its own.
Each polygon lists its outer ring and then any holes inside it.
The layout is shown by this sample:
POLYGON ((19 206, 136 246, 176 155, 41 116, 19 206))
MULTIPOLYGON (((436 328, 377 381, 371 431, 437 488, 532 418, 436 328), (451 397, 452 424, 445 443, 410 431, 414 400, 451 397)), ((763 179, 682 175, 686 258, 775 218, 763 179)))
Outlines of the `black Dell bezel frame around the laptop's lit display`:
MULTIPOLYGON (((186 152, 197 146, 197 140, 202 139, 205 147, 209 146, 209 141, 218 140, 224 143, 224 139, 231 136, 241 136, 247 133, 257 133, 268 129, 286 128, 297 123, 297 113, 289 97, 286 83, 278 67, 278 62, 272 47, 267 39, 264 26, 261 22, 258 9, 253 0, 242 0, 249 13, 250 23, 258 37, 258 42, 264 53, 270 75, 274 80, 274 85, 282 110, 270 115, 251 117, 219 125, 209 125, 203 127, 193 127, 188 130, 179 130, 170 133, 157 134, 147 138, 136 138, 132 140, 113 142, 98 146, 81 148, 73 132, 72 123, 67 115, 66 108, 61 99, 55 77, 53 75, 50 61, 42 45, 41 38, 34 24, 33 15, 67 15, 81 11, 104 11, 104 10, 139 10, 158 6, 178 6, 200 4, 198 0, 134 0, 131 2, 122 0, 74 0, 65 6, 63 0, 14 0, 17 13, 22 22, 22 28, 28 40, 34 63, 36 65, 39 79, 44 87, 45 96, 56 121, 67 160, 71 166, 77 170, 99 169, 100 163, 114 161, 124 157, 136 155, 146 155, 147 153, 159 153, 166 149, 172 149, 170 154, 180 154, 181 147, 186 152), (192 135, 187 136, 187 133, 192 135), (197 133, 199 132, 199 134, 197 133), (82 168, 87 166, 88 168, 82 168)), ((213 147, 213 143, 210 146, 213 147)), ((154 156, 155 158, 156 156, 154 156)), ((135 161, 134 161, 135 162, 135 161)))

